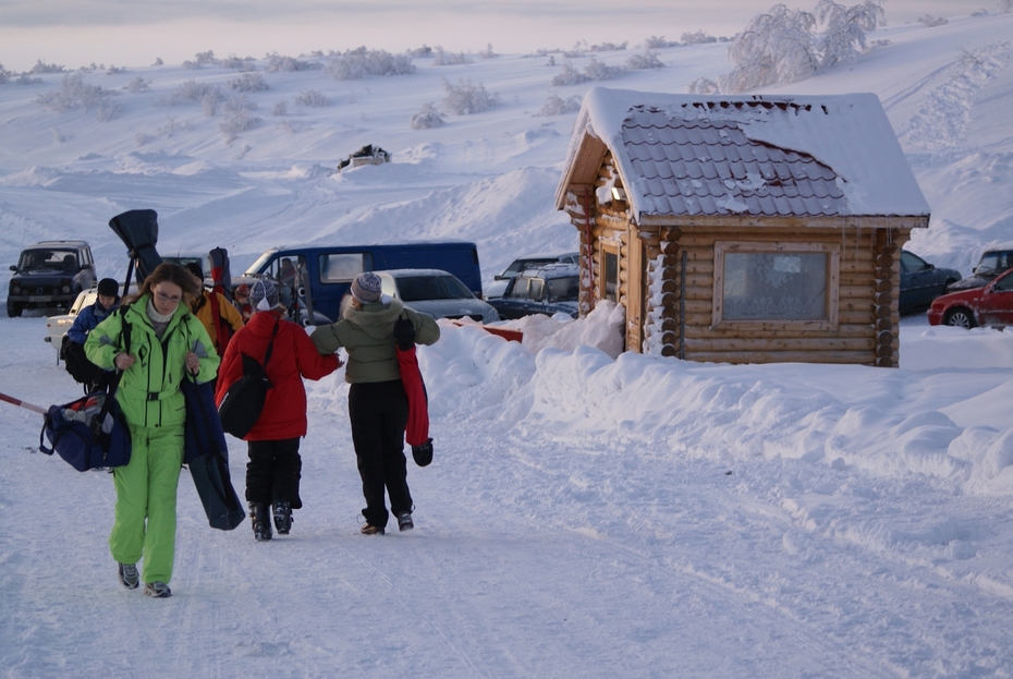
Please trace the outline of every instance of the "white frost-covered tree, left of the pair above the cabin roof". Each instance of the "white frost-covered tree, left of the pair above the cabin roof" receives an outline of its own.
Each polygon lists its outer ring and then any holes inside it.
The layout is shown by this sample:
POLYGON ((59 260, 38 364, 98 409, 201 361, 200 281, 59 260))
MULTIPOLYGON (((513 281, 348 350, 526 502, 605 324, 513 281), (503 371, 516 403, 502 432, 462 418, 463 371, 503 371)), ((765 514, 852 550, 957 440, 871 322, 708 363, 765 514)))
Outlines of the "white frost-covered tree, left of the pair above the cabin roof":
POLYGON ((721 92, 794 83, 819 70, 819 51, 809 12, 776 4, 757 14, 729 47, 735 66, 718 78, 721 92))

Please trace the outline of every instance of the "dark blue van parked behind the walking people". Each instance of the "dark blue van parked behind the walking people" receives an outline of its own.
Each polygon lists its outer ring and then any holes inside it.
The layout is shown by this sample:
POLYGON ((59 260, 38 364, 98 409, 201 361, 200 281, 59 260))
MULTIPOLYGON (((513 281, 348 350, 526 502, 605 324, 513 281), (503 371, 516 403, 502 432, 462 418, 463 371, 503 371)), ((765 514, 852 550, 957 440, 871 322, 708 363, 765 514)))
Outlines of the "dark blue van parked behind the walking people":
POLYGON ((341 299, 363 271, 383 269, 442 269, 461 279, 481 299, 478 246, 465 241, 427 241, 385 245, 276 247, 254 262, 235 284, 267 276, 280 284, 282 303, 305 299, 313 325, 337 320, 341 299))

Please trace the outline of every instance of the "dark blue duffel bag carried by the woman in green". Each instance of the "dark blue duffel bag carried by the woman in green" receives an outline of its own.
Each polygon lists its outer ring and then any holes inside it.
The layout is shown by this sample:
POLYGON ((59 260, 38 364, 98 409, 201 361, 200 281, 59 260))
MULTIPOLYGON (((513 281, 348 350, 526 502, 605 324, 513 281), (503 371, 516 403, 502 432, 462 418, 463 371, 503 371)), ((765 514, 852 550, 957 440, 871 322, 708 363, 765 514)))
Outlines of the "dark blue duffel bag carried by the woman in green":
POLYGON ((78 472, 123 466, 130 462, 131 439, 120 403, 113 395, 98 392, 51 405, 39 433, 39 450, 56 451, 78 472))

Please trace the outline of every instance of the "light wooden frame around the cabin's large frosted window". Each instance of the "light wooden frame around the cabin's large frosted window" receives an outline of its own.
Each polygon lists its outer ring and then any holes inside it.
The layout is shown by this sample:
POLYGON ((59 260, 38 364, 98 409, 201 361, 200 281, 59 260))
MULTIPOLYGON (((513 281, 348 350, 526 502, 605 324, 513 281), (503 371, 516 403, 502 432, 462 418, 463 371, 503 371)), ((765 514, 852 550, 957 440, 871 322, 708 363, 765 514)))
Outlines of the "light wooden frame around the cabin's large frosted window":
POLYGON ((712 328, 722 330, 837 330, 841 287, 841 246, 837 243, 785 241, 716 241, 712 328), (827 256, 823 318, 724 318, 724 257, 728 254, 825 254, 827 256))

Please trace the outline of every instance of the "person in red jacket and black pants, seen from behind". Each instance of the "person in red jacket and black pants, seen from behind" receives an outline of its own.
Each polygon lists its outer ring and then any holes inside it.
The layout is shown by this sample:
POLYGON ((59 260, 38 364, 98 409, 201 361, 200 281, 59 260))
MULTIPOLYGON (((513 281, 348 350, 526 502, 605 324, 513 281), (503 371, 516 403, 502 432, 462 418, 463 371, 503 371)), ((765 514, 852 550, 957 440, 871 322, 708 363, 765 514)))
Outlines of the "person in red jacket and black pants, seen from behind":
POLYGON ((320 379, 338 369, 341 362, 334 355, 321 356, 306 330, 282 318, 278 290, 269 280, 258 280, 249 287, 249 302, 253 316, 225 349, 215 396, 221 403, 229 387, 243 376, 241 354, 263 365, 268 344, 271 344, 265 371, 272 388, 268 389, 260 419, 243 437, 249 452, 246 465, 249 518, 254 537, 265 541, 271 538, 268 506, 271 506, 279 535, 288 535, 292 528, 292 510, 303 506, 298 496, 303 466, 298 444, 306 435, 303 377, 320 379))

